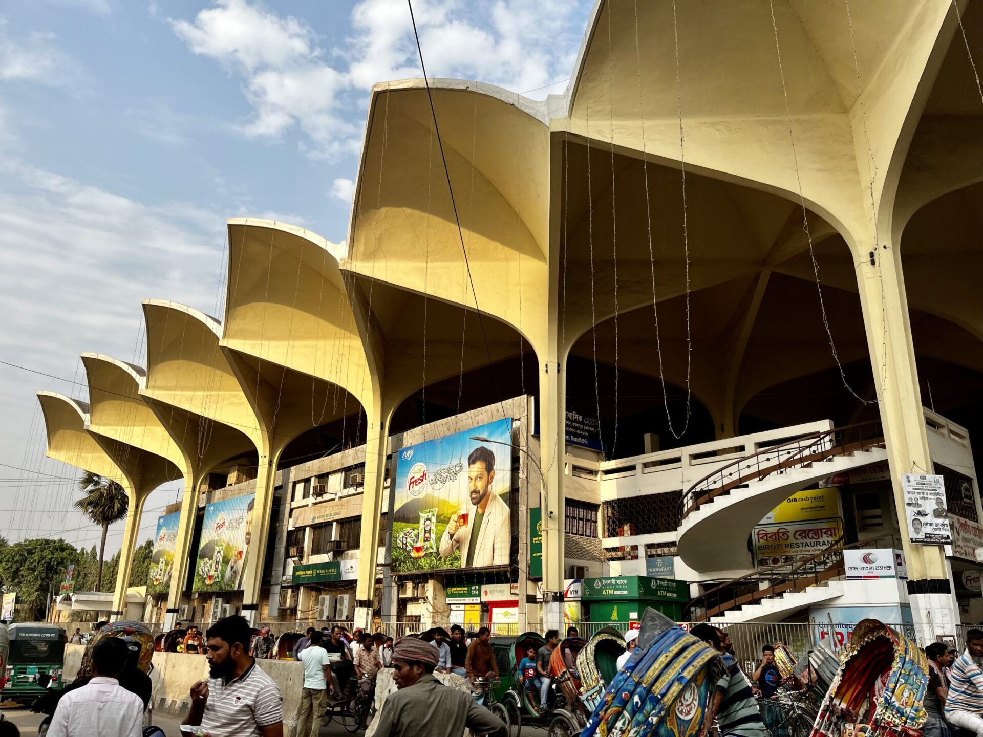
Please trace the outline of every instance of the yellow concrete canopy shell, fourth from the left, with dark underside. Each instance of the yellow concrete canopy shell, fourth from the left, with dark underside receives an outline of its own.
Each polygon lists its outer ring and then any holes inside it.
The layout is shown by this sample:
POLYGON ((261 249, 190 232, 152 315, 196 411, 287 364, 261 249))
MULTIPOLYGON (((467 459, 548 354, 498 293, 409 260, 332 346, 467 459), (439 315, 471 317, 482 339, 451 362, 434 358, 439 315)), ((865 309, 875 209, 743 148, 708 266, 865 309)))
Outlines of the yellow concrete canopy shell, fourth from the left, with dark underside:
POLYGON ((333 255, 340 247, 270 220, 228 227, 220 346, 260 425, 282 446, 371 406, 376 377, 333 255))

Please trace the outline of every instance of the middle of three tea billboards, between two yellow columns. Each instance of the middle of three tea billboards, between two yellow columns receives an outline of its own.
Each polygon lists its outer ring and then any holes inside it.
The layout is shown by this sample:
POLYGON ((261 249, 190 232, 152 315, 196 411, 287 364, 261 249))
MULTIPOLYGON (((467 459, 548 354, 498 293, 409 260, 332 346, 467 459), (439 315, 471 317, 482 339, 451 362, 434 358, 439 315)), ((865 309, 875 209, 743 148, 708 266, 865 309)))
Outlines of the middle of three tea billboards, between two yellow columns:
POLYGON ((255 498, 256 494, 236 496, 204 508, 193 591, 232 592, 243 588, 253 537, 255 498))

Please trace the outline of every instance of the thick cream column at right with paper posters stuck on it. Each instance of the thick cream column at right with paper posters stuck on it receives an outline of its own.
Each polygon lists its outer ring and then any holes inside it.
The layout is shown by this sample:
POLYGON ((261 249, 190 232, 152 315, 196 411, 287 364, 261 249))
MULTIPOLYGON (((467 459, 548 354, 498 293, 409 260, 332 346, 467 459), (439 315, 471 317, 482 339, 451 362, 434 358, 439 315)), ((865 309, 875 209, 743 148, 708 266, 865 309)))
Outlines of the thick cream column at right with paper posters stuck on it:
POLYGON ((908 569, 908 594, 915 628, 925 642, 952 634, 959 622, 950 584, 949 561, 942 545, 913 544, 904 518, 902 474, 932 474, 925 413, 922 411, 918 370, 901 272, 900 253, 883 239, 857 270, 871 365, 880 398, 881 423, 888 448, 898 526, 908 569), (887 325, 885 325, 885 321, 887 325))

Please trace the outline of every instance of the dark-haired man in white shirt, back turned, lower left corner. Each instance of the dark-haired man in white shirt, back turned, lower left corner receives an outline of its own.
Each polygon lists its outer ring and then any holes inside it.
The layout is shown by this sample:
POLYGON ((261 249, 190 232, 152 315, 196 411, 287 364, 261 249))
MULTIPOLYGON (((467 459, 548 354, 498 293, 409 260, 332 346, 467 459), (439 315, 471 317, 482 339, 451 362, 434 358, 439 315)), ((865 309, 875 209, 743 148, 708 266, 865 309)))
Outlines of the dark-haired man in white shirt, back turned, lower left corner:
POLYGON ((144 702, 116 680, 126 657, 126 643, 115 637, 92 649, 92 677, 58 702, 50 737, 141 737, 144 702))

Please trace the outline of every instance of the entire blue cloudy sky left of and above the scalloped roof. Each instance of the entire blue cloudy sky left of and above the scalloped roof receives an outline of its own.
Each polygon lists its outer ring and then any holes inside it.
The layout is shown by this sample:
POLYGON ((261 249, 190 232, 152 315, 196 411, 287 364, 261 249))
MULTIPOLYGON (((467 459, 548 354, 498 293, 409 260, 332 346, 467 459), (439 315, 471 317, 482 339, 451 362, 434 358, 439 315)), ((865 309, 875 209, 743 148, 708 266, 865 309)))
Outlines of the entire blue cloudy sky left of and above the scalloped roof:
MULTIPOLYGON (((590 6, 414 11, 432 76, 542 98, 565 88, 590 6)), ((418 64, 403 0, 6 0, 0 361, 83 382, 84 351, 143 365, 141 299, 218 309, 227 217, 343 241, 369 89, 418 64)), ((68 511, 75 471, 43 458, 38 389, 85 399, 0 366, 0 463, 35 472, 0 467, 0 535, 91 544, 68 511)), ((150 497, 147 535, 175 498, 150 497)))

